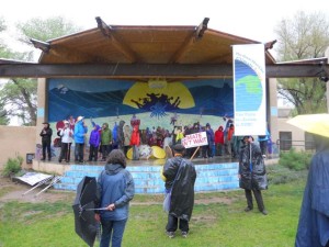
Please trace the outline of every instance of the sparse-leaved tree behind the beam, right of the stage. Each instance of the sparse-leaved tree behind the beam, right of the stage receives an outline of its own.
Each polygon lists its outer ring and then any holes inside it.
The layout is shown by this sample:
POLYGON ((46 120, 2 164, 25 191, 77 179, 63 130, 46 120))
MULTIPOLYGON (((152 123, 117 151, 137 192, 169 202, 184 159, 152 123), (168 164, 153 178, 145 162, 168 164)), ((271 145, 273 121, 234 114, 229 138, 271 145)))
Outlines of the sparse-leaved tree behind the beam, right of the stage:
MULTIPOLYGON (((277 60, 324 57, 329 47, 327 18, 321 12, 299 11, 292 19, 282 20, 274 30, 280 41, 277 60)), ((296 114, 327 112, 326 83, 319 78, 279 79, 277 92, 295 106, 296 114)))

